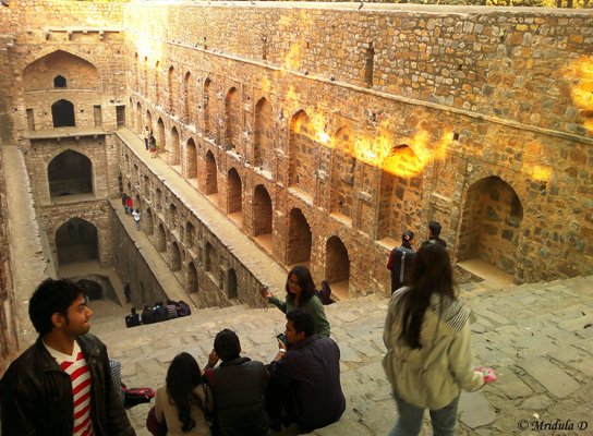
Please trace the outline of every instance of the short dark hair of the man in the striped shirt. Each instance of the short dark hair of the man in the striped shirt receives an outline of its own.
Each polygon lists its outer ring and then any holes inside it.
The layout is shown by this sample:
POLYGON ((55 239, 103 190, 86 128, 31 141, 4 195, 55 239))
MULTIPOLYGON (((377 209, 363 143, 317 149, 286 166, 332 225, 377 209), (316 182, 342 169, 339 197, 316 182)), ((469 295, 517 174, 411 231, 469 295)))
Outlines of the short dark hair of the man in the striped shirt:
POLYGON ((28 302, 28 317, 39 335, 46 335, 53 328, 51 316, 60 313, 68 316, 68 307, 76 301, 84 291, 70 280, 44 280, 33 292, 28 302))

